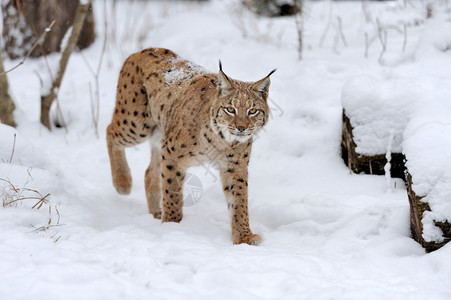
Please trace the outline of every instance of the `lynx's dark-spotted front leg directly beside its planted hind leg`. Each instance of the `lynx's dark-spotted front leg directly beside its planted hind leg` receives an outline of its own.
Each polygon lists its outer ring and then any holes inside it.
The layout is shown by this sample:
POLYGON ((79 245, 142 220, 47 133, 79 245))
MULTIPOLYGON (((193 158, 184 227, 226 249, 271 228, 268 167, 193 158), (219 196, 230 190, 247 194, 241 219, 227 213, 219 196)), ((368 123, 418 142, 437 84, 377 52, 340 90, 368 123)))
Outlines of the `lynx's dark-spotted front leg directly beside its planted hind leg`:
POLYGON ((169 160, 163 152, 161 162, 161 187, 163 193, 163 222, 180 222, 183 218, 183 179, 185 170, 180 164, 169 160))

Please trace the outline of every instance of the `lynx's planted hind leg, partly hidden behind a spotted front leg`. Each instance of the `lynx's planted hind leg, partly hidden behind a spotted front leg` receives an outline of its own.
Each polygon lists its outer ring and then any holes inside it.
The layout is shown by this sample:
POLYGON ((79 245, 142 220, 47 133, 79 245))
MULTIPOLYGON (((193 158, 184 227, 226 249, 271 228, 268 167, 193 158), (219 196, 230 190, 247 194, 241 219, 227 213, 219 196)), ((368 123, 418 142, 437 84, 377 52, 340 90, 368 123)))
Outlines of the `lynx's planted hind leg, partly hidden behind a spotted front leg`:
POLYGON ((161 134, 155 132, 151 138, 152 153, 146 170, 145 187, 149 213, 161 219, 161 134))

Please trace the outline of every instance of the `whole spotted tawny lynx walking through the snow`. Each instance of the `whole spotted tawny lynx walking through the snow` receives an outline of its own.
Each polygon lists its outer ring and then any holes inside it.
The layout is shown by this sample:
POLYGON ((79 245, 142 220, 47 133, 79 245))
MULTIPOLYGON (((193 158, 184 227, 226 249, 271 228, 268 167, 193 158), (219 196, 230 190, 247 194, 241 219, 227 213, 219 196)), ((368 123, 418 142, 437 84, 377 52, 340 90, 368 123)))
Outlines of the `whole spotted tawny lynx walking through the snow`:
POLYGON ((113 184, 129 194, 132 177, 125 148, 151 140, 145 174, 149 212, 162 222, 183 217, 188 167, 210 163, 221 174, 235 244, 258 245, 249 227, 248 164, 253 137, 267 123, 270 75, 257 82, 229 78, 167 49, 131 55, 119 75, 116 107, 107 128, 113 184))

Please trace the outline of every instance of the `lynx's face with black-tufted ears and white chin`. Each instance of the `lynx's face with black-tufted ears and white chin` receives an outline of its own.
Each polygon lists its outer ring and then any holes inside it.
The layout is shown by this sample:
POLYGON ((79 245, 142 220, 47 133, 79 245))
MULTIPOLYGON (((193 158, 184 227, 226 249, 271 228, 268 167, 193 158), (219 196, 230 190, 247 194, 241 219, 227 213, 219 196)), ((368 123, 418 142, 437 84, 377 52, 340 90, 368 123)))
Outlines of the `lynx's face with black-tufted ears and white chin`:
POLYGON ((213 130, 229 142, 247 142, 266 124, 269 76, 255 83, 231 80, 219 71, 218 100, 212 106, 213 130))

